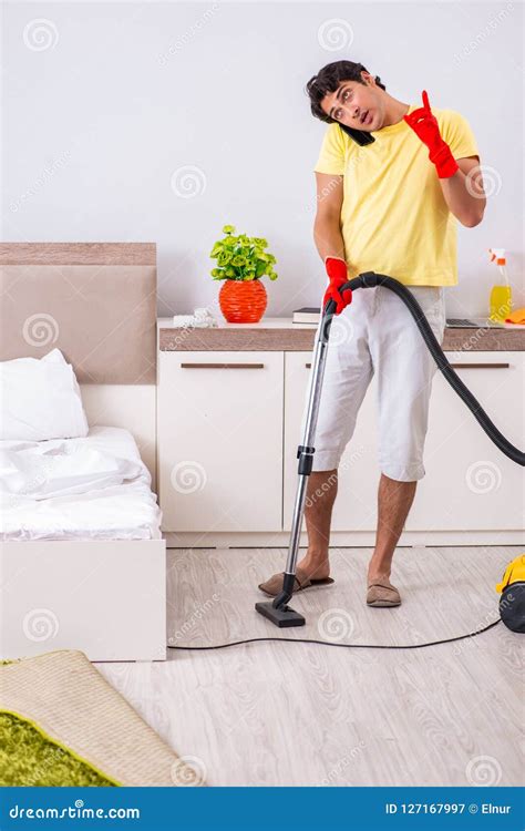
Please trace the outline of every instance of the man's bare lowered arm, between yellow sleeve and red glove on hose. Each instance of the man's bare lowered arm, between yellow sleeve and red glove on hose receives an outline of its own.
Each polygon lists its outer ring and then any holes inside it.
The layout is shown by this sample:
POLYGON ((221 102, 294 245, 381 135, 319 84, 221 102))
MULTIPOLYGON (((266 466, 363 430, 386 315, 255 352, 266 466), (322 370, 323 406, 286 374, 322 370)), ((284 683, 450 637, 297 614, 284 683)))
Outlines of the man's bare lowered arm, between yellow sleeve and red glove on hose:
POLYGON ((344 259, 344 243, 341 234, 341 207, 343 176, 316 173, 317 213, 313 223, 313 239, 321 259, 344 259))

